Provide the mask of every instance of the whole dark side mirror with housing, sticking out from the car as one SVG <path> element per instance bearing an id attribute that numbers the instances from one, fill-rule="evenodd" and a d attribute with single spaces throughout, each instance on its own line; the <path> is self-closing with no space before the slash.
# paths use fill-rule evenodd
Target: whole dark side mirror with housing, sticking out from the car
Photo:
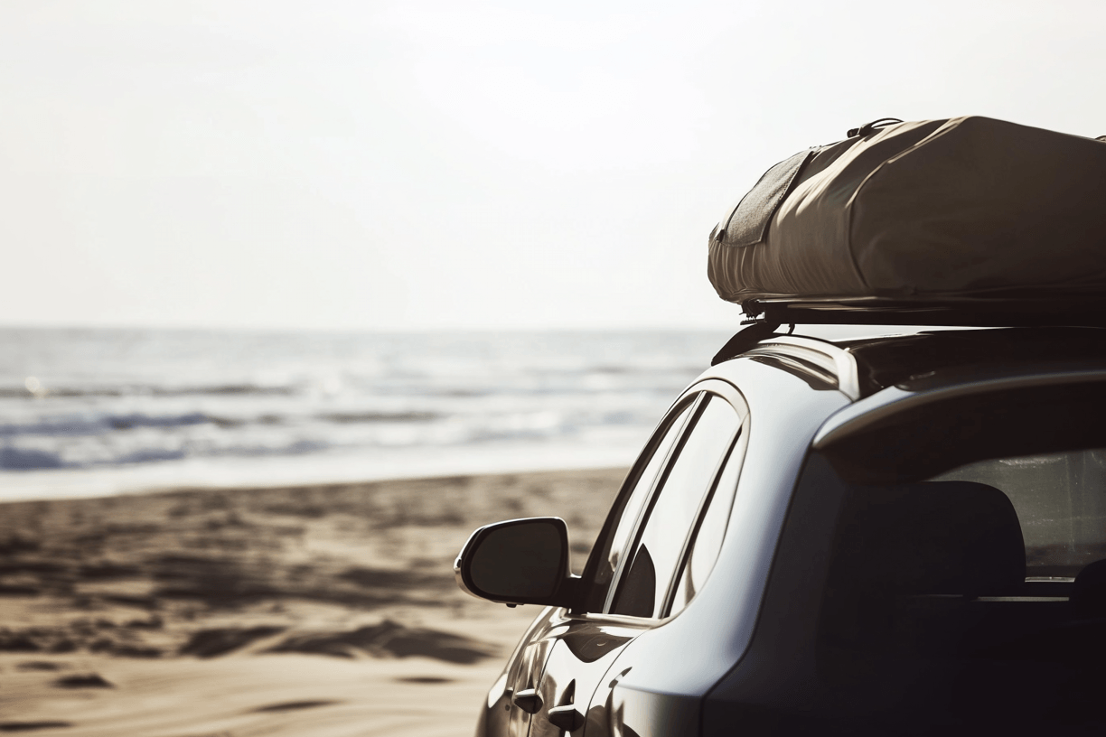
<path id="1" fill-rule="evenodd" d="M 571 607 L 568 528 L 560 517 L 509 519 L 472 533 L 453 564 L 462 591 L 509 607 Z"/>

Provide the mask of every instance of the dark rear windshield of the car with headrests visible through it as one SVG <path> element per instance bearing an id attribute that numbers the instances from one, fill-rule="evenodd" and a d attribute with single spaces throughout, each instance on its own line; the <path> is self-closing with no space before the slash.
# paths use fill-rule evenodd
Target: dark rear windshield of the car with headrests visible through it
<path id="1" fill-rule="evenodd" d="M 839 708 L 1106 734 L 1106 450 L 837 488 L 817 661 Z"/>

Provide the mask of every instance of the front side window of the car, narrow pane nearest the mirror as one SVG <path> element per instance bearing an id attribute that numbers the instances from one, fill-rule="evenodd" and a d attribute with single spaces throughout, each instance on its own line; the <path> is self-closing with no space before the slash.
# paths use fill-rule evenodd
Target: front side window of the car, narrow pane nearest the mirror
<path id="1" fill-rule="evenodd" d="M 612 510 L 612 520 L 605 527 L 605 537 L 601 537 L 596 543 L 595 552 L 592 554 L 593 560 L 588 568 L 594 572 L 591 575 L 592 581 L 585 599 L 587 611 L 599 611 L 606 603 L 607 591 L 614 572 L 618 569 L 619 557 L 628 547 L 629 536 L 637 525 L 641 507 L 649 498 L 649 492 L 653 491 L 676 439 L 679 438 L 688 415 L 691 414 L 697 397 L 698 394 L 689 398 L 682 409 L 670 415 L 667 422 L 661 423 L 654 436 L 656 442 L 646 445 L 643 457 L 635 464 L 641 472 L 629 491 L 622 495 L 620 505 L 616 505 Z"/>

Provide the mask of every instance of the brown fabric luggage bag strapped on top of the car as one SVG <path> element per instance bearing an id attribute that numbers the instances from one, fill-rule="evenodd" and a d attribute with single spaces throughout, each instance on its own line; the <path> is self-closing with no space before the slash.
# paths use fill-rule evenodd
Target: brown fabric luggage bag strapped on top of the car
<path id="1" fill-rule="evenodd" d="M 1057 299 L 1106 315 L 1106 144 L 984 117 L 849 134 L 774 166 L 716 227 L 719 296 L 838 313 L 818 322 Z"/>

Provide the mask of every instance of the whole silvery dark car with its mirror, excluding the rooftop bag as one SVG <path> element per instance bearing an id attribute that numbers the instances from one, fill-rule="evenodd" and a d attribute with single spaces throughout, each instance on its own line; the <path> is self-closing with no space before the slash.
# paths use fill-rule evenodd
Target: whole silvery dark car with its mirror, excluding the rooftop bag
<path id="1" fill-rule="evenodd" d="M 479 736 L 1106 734 L 1106 330 L 806 333 L 680 394 L 580 578 L 470 539 L 547 604 Z"/>

